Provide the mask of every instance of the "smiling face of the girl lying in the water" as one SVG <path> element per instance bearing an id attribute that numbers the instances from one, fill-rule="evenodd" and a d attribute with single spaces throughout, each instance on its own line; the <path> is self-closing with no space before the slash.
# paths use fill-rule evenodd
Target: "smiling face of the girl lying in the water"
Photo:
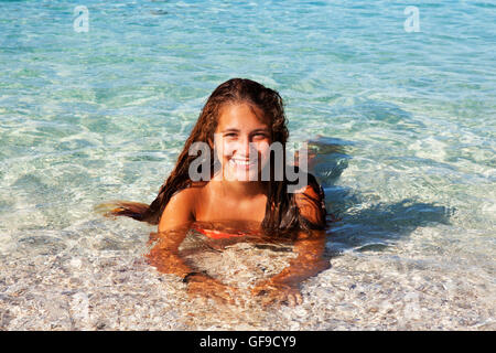
<path id="1" fill-rule="evenodd" d="M 248 104 L 222 107 L 214 135 L 223 178 L 229 181 L 259 181 L 269 160 L 270 127 L 263 111 Z"/>

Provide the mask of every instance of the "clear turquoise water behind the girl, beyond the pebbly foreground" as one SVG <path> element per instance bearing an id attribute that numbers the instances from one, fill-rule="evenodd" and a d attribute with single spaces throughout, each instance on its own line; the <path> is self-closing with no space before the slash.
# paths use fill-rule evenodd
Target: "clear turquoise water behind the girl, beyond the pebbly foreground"
<path id="1" fill-rule="evenodd" d="M 151 202 L 212 90 L 247 77 L 285 99 L 293 141 L 344 148 L 320 165 L 347 162 L 324 180 L 331 252 L 470 268 L 494 299 L 496 3 L 414 1 L 417 33 L 410 4 L 0 1 L 0 252 L 142 246 L 152 227 L 94 205 Z"/>

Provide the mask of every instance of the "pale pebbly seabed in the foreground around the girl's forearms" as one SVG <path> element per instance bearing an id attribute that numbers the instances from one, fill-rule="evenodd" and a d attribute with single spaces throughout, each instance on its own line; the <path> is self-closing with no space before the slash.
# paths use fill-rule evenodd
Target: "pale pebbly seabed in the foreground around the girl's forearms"
<path id="1" fill-rule="evenodd" d="M 398 256 L 409 253 L 409 258 Z M 302 285 L 304 302 L 263 308 L 188 298 L 173 275 L 136 249 L 54 250 L 26 245 L 0 259 L 1 330 L 495 330 L 495 285 L 487 271 L 442 265 L 398 246 L 345 252 Z M 247 244 L 196 256 L 196 266 L 241 292 L 287 266 L 288 252 Z"/>

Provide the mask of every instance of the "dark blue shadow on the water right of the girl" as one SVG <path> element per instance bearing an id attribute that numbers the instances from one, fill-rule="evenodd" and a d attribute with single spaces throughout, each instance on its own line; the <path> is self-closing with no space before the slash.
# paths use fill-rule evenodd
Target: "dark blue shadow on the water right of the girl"
<path id="1" fill-rule="evenodd" d="M 335 185 L 348 167 L 355 143 L 319 136 L 309 141 L 310 172 L 325 191 L 330 215 L 327 253 L 338 255 L 348 249 L 380 252 L 417 227 L 450 224 L 453 208 L 405 199 L 384 203 L 365 199 L 351 188 Z M 333 221 L 337 218 L 337 221 Z"/>

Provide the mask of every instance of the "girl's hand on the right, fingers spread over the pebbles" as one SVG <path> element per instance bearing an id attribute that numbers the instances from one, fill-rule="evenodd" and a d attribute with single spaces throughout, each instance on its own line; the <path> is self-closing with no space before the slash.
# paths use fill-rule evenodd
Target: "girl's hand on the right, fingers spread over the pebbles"
<path id="1" fill-rule="evenodd" d="M 268 279 L 257 285 L 251 290 L 251 293 L 257 297 L 262 297 L 261 301 L 265 306 L 287 303 L 290 307 L 294 307 L 303 302 L 303 297 L 296 287 L 281 284 L 273 279 Z"/>

